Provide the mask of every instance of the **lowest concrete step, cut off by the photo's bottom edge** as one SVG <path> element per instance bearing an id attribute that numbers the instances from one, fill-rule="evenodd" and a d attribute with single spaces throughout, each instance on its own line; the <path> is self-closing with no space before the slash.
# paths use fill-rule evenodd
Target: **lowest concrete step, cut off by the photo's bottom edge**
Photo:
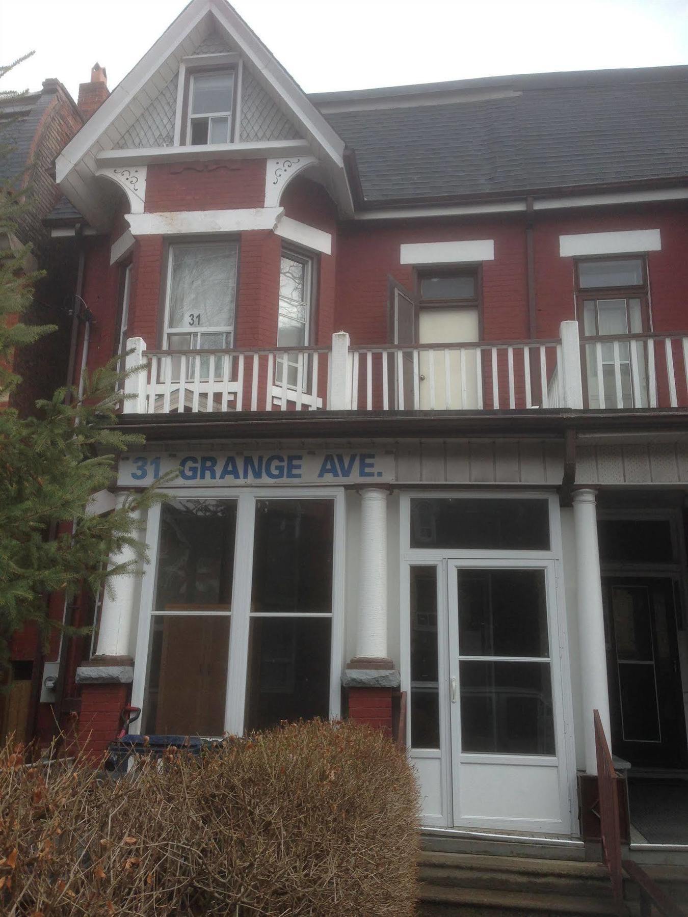
<path id="1" fill-rule="evenodd" d="M 461 909 L 462 917 L 470 913 L 464 909 L 476 909 L 474 913 L 487 915 L 505 913 L 510 917 L 520 915 L 548 914 L 549 917 L 563 917 L 564 914 L 592 914 L 595 917 L 604 917 L 614 914 L 614 901 L 611 898 L 594 895 L 571 897 L 566 894 L 538 894 L 531 891 L 503 891 L 502 889 L 473 889 L 473 888 L 447 888 L 443 885 L 431 885 L 427 882 L 420 883 L 420 905 L 418 913 L 429 915 L 438 906 L 449 909 Z M 426 909 L 426 910 L 424 910 Z"/>

